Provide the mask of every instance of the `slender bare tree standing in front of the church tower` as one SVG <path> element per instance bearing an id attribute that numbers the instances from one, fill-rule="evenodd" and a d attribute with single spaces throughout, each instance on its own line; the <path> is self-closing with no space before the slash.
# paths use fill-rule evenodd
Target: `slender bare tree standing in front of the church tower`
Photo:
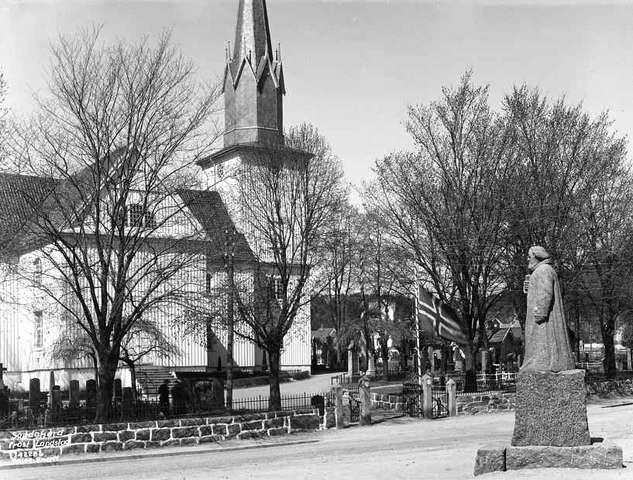
<path id="1" fill-rule="evenodd" d="M 233 285 L 247 327 L 236 334 L 267 354 L 271 409 L 281 407 L 284 338 L 309 301 L 310 269 L 321 260 L 317 247 L 344 197 L 339 162 L 315 127 L 291 128 L 286 144 L 295 150 L 261 153 L 242 169 L 237 187 L 245 235 L 258 248 L 254 274 L 236 275 Z"/>

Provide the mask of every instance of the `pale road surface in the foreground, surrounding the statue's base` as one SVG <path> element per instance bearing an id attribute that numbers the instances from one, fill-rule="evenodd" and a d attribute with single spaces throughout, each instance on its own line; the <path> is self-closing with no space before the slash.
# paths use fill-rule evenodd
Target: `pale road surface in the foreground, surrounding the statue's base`
<path id="1" fill-rule="evenodd" d="M 371 427 L 313 434 L 311 438 L 318 439 L 317 443 L 4 470 L 0 471 L 0 479 L 454 480 L 472 478 L 477 447 L 490 442 L 508 442 L 513 422 L 512 413 L 435 421 L 400 418 Z M 624 448 L 625 465 L 629 468 L 618 471 L 524 470 L 479 478 L 633 479 L 633 405 L 613 408 L 592 405 L 589 423 L 593 436 L 609 437 Z"/>

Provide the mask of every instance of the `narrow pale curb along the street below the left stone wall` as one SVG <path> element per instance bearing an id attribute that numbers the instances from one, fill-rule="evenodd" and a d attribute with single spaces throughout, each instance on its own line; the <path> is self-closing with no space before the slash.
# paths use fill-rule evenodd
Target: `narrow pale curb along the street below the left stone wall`
<path id="1" fill-rule="evenodd" d="M 55 460 L 51 462 L 32 462 L 32 463 L 11 463 L 7 465 L 0 465 L 0 471 L 2 470 L 13 470 L 17 468 L 37 468 L 37 467 L 47 467 L 51 465 L 73 465 L 78 463 L 102 463 L 102 462 L 115 462 L 121 460 L 138 460 L 142 458 L 151 458 L 151 457 L 173 457 L 176 455 L 202 455 L 205 453 L 216 453 L 216 452 L 235 452 L 239 450 L 254 450 L 257 448 L 272 448 L 272 447 L 287 447 L 292 445 L 303 445 L 307 443 L 318 443 L 317 439 L 307 439 L 307 440 L 295 440 L 290 442 L 273 442 L 273 443 L 259 443 L 255 445 L 236 445 L 230 447 L 222 447 L 221 443 L 217 443 L 216 445 L 220 445 L 217 448 L 191 448 L 188 450 L 183 450 L 182 447 L 175 447 L 170 451 L 161 451 L 160 449 L 152 450 L 147 453 L 135 453 L 132 455 L 108 455 L 108 456 L 95 456 L 95 457 L 82 457 L 82 458 L 70 458 L 68 460 Z"/>

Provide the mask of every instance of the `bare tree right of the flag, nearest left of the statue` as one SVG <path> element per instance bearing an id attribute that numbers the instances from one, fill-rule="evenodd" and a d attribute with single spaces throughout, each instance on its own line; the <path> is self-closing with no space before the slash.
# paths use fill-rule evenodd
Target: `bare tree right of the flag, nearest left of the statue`
<path id="1" fill-rule="evenodd" d="M 456 307 L 473 389 L 486 313 L 503 290 L 498 265 L 512 142 L 490 111 L 488 88 L 473 85 L 470 74 L 442 93 L 438 102 L 409 108 L 407 129 L 418 150 L 376 163 L 370 201 L 425 285 Z"/>

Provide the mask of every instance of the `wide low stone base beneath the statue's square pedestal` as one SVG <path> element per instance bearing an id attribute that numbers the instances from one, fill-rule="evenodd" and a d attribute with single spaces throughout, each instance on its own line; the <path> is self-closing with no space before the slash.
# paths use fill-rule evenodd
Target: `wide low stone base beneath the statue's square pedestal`
<path id="1" fill-rule="evenodd" d="M 592 439 L 591 445 L 485 446 L 477 450 L 475 476 L 524 468 L 622 468 L 622 448 L 610 440 Z"/>

